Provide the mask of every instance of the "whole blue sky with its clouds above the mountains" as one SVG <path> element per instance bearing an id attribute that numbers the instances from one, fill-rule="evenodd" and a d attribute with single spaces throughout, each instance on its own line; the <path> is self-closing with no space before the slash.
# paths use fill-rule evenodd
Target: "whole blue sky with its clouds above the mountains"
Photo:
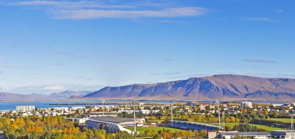
<path id="1" fill-rule="evenodd" d="M 295 78 L 294 0 L 0 0 L 0 92 Z"/>

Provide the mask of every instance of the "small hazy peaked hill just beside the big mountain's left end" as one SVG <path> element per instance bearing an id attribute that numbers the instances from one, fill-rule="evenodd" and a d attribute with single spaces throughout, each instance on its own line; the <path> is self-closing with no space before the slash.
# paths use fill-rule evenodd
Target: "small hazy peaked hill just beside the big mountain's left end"
<path id="1" fill-rule="evenodd" d="M 51 97 L 55 99 L 67 99 L 71 96 L 85 96 L 87 94 L 91 93 L 91 91 L 85 91 L 85 90 L 79 90 L 79 91 L 72 91 L 72 90 L 66 90 L 59 93 L 52 93 L 50 94 Z"/>

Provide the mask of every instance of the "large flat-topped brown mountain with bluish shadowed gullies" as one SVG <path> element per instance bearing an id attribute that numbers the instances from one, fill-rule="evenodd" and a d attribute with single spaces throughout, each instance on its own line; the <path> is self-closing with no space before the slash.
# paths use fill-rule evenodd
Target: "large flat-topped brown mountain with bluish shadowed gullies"
<path id="1" fill-rule="evenodd" d="M 166 83 L 105 87 L 83 98 L 295 100 L 295 79 L 214 75 Z"/>

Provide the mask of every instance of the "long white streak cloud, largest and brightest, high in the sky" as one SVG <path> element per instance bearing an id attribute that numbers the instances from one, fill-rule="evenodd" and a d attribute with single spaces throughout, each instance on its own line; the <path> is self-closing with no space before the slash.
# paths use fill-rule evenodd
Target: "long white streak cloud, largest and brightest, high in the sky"
<path id="1" fill-rule="evenodd" d="M 207 14 L 209 10 L 203 7 L 179 7 L 161 10 L 59 10 L 54 11 L 54 18 L 57 19 L 98 19 L 98 18 L 173 18 L 192 17 Z"/>

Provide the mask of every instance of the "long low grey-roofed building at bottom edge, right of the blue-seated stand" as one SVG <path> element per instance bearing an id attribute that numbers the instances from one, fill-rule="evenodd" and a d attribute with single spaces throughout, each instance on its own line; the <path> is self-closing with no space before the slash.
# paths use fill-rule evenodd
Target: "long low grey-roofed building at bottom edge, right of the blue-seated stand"
<path id="1" fill-rule="evenodd" d="M 268 132 L 237 132 L 230 131 L 224 132 L 219 131 L 218 138 L 222 139 L 235 139 L 236 136 L 243 136 L 244 138 L 251 137 L 251 139 L 268 139 L 271 137 L 271 134 Z"/>

